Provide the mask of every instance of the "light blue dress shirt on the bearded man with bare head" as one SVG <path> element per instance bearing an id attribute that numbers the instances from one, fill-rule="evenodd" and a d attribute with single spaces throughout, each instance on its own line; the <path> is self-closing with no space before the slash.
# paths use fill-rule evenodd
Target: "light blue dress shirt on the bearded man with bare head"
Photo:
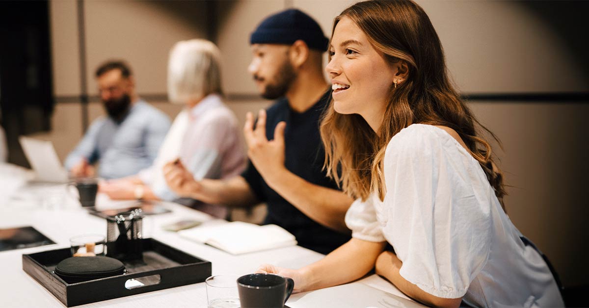
<path id="1" fill-rule="evenodd" d="M 167 115 L 140 100 L 135 102 L 123 122 L 101 117 L 90 128 L 65 160 L 70 170 L 82 158 L 100 161 L 98 176 L 121 178 L 149 167 L 170 128 Z"/>

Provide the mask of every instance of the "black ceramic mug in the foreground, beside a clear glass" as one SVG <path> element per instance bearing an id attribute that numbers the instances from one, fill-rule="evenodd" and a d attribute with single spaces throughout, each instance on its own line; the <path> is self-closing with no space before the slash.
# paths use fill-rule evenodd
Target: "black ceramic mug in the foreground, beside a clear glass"
<path id="1" fill-rule="evenodd" d="M 241 308 L 284 307 L 294 281 L 275 274 L 248 274 L 237 279 Z"/>

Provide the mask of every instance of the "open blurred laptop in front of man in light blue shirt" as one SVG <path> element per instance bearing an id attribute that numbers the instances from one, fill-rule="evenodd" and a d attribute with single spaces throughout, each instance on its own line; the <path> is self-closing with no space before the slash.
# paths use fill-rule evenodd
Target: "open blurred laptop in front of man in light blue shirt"
<path id="1" fill-rule="evenodd" d="M 21 136 L 18 138 L 29 164 L 37 174 L 35 181 L 67 183 L 68 173 L 61 165 L 51 141 Z"/>

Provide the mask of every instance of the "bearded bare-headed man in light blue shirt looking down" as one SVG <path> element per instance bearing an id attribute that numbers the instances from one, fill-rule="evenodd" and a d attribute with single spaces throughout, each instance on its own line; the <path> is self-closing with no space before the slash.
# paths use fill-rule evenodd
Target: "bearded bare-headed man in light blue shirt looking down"
<path id="1" fill-rule="evenodd" d="M 73 177 L 121 178 L 149 167 L 166 137 L 170 120 L 135 92 L 131 69 L 108 61 L 96 70 L 100 99 L 107 116 L 90 125 L 65 160 Z M 94 164 L 100 163 L 98 174 Z"/>

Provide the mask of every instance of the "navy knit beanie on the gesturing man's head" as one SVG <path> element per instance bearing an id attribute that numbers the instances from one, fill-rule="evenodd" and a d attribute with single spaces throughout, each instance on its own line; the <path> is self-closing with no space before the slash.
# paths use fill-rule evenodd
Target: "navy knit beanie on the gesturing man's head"
<path id="1" fill-rule="evenodd" d="M 319 51 L 326 51 L 329 42 L 315 19 L 298 9 L 287 9 L 264 19 L 252 33 L 250 44 L 290 45 L 298 39 Z"/>

